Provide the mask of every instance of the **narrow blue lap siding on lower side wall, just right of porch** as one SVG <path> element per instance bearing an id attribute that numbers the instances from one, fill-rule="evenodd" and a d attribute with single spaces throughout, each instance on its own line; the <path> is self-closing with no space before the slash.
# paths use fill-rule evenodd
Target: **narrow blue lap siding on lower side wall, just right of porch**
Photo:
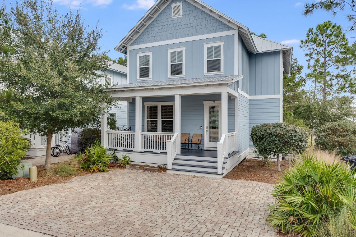
<path id="1" fill-rule="evenodd" d="M 250 140 L 250 105 L 249 99 L 239 93 L 238 97 L 239 107 L 239 137 L 238 137 L 238 150 L 239 155 L 244 153 L 249 148 Z"/>

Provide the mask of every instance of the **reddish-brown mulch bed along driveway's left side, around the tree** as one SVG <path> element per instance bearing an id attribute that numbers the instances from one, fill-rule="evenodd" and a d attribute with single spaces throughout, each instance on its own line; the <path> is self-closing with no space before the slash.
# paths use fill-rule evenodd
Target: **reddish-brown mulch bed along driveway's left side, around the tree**
<path id="1" fill-rule="evenodd" d="M 27 158 L 27 159 L 31 159 L 31 158 Z M 139 166 L 140 170 L 143 170 L 144 167 L 157 168 L 157 167 L 150 166 L 150 165 L 138 165 L 138 164 L 132 164 L 132 165 Z M 110 169 L 124 169 L 121 167 L 120 164 L 117 164 L 117 163 L 110 163 L 109 168 Z M 166 172 L 166 169 L 160 170 L 159 172 Z M 51 177 L 51 176 L 45 175 L 45 166 L 41 165 L 41 166 L 37 166 L 37 181 L 36 182 L 31 182 L 29 178 L 23 178 L 23 177 L 17 178 L 17 179 L 0 180 L 0 195 L 15 193 L 15 192 L 21 191 L 21 190 L 38 188 L 38 187 L 45 186 L 45 185 L 63 183 L 66 180 L 72 179 L 74 177 L 82 176 L 82 175 L 87 175 L 87 174 L 91 174 L 91 173 L 88 171 L 78 170 L 77 175 L 69 175 L 67 177 L 59 177 L 59 176 Z"/>

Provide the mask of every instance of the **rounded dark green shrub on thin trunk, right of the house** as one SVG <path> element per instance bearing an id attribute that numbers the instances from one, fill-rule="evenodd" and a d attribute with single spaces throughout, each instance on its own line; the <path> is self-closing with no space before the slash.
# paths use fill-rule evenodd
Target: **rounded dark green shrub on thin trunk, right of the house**
<path id="1" fill-rule="evenodd" d="M 279 155 L 305 151 L 308 131 L 286 122 L 263 123 L 252 127 L 251 141 L 259 156 L 276 156 L 281 171 Z"/>

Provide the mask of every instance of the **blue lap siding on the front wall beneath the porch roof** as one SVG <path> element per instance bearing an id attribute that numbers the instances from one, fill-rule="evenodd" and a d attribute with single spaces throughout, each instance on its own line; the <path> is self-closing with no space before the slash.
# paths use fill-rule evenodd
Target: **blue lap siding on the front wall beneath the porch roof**
<path id="1" fill-rule="evenodd" d="M 189 133 L 201 133 L 201 143 L 204 149 L 204 101 L 221 100 L 221 94 L 214 95 L 186 95 L 181 96 L 180 107 L 180 131 Z M 142 131 L 145 131 L 145 102 L 174 101 L 173 96 L 142 98 Z M 129 126 L 135 131 L 135 98 L 129 103 Z M 228 97 L 228 132 L 235 131 L 235 99 Z M 184 145 L 183 145 L 184 147 Z"/>

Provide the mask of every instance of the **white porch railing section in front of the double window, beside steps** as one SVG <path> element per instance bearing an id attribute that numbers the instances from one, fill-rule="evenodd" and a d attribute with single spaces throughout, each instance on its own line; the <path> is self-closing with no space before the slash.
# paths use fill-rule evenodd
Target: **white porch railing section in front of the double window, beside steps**
<path id="1" fill-rule="evenodd" d="M 153 152 L 167 152 L 167 141 L 171 140 L 174 133 L 141 132 L 141 150 Z"/>

